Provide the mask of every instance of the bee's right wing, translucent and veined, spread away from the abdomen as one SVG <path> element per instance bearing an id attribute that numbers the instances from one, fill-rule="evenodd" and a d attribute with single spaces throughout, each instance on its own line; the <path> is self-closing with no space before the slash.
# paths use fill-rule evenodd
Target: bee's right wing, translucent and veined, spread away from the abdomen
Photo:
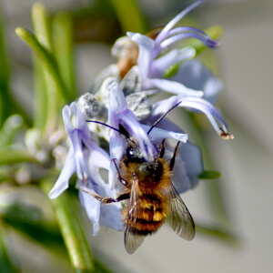
<path id="1" fill-rule="evenodd" d="M 170 196 L 170 225 L 180 237 L 190 241 L 195 237 L 195 223 L 172 183 Z"/>

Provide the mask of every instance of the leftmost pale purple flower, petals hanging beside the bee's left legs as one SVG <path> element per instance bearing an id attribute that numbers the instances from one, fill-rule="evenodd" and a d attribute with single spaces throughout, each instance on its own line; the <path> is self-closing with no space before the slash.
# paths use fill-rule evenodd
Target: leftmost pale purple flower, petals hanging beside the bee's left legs
<path id="1" fill-rule="evenodd" d="M 101 206 L 101 202 L 91 195 L 96 193 L 106 197 L 116 197 L 116 190 L 110 189 L 98 172 L 98 168 L 109 170 L 110 157 L 91 139 L 86 120 L 76 103 L 64 107 L 63 119 L 71 146 L 65 165 L 49 197 L 56 198 L 62 194 L 68 187 L 69 178 L 76 172 L 80 201 L 93 223 L 93 235 L 98 232 L 99 225 L 122 230 L 120 204 L 111 207 Z"/>

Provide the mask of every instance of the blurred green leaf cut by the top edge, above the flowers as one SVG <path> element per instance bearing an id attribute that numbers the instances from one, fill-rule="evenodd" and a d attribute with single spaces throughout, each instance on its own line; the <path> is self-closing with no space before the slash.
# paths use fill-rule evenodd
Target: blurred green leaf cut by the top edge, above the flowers
<path id="1" fill-rule="evenodd" d="M 127 31 L 146 33 L 147 22 L 139 11 L 136 0 L 112 0 L 124 33 Z"/>

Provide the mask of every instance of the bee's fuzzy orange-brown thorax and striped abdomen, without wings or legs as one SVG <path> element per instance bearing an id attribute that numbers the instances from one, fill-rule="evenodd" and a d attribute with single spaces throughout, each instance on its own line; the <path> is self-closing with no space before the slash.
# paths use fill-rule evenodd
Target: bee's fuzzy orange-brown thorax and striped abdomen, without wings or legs
<path id="1" fill-rule="evenodd" d="M 136 194 L 135 206 L 124 209 L 125 225 L 130 233 L 151 235 L 162 226 L 169 212 L 169 164 L 163 158 L 142 163 L 131 163 L 125 158 L 121 162 L 121 176 L 128 181 L 126 191 Z M 136 192 L 132 187 L 136 187 Z"/>

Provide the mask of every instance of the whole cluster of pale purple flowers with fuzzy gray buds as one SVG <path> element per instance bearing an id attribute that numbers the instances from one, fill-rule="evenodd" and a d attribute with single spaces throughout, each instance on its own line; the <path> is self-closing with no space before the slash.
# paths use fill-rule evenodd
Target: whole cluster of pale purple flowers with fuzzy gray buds
<path id="1" fill-rule="evenodd" d="M 199 61 L 191 59 L 196 55 L 194 48 L 187 46 L 169 50 L 170 45 L 184 38 L 197 38 L 209 47 L 218 45 L 197 28 L 174 28 L 184 15 L 202 2 L 197 1 L 173 18 L 155 40 L 146 35 L 128 33 L 128 37 L 116 43 L 113 52 L 122 54 L 123 46 L 126 47 L 126 41 L 130 39 L 131 44 L 138 45 L 137 66 L 131 67 L 121 82 L 118 67 L 109 66 L 95 80 L 93 94 L 81 96 L 77 104 L 72 103 L 63 109 L 66 133 L 71 143 L 65 165 L 49 197 L 56 198 L 66 190 L 69 178 L 76 173 L 80 201 L 93 223 L 93 235 L 100 226 L 123 229 L 121 205 L 101 205 L 92 194 L 116 198 L 116 183 L 119 183 L 116 167 L 124 156 L 127 137 L 134 137 L 141 157 L 147 161 L 158 157 L 164 139 L 167 139 L 164 155 L 167 160 L 174 153 L 169 139 L 181 142 L 172 170 L 172 181 L 178 193 L 197 186 L 198 177 L 204 171 L 202 154 L 199 147 L 187 140 L 187 134 L 165 115 L 177 106 L 186 107 L 205 114 L 219 136 L 233 137 L 223 116 L 213 106 L 222 89 L 221 81 Z M 167 77 L 167 69 L 171 66 L 179 66 L 177 74 Z M 147 96 L 158 90 L 175 96 L 153 104 Z M 155 125 L 159 117 L 162 119 Z M 86 119 L 92 119 L 89 121 L 93 123 L 87 125 Z M 121 127 L 125 128 L 128 136 Z M 101 138 L 109 144 L 109 155 L 99 147 Z M 100 168 L 108 172 L 107 183 L 100 175 Z"/>

